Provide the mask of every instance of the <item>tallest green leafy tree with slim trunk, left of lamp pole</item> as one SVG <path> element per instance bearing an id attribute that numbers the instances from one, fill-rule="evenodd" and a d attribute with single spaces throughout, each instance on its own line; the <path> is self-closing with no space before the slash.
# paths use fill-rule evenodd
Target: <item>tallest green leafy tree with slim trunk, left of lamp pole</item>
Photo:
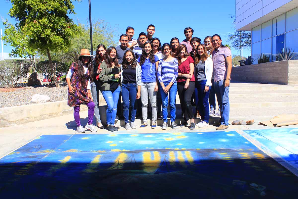
<path id="1" fill-rule="evenodd" d="M 77 0 L 80 1 L 80 0 Z M 37 49 L 49 59 L 56 87 L 59 86 L 50 51 L 65 50 L 70 38 L 80 31 L 67 14 L 75 14 L 71 0 L 11 0 L 9 14 L 16 28 L 29 38 L 30 49 Z"/>

